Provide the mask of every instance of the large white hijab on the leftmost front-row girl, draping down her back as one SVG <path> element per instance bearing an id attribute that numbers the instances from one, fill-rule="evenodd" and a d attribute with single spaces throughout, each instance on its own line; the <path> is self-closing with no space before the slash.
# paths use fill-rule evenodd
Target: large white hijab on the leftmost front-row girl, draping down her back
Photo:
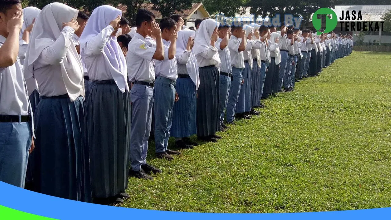
<path id="1" fill-rule="evenodd" d="M 63 23 L 77 18 L 79 10 L 68 5 L 54 2 L 46 5 L 36 18 L 34 31 L 30 36 L 24 62 L 25 78 L 33 77 L 34 63 L 46 47 L 50 47 L 60 36 Z M 71 41 L 68 52 L 61 63 L 61 75 L 71 101 L 79 95 L 84 96 L 83 67 L 76 47 Z"/>

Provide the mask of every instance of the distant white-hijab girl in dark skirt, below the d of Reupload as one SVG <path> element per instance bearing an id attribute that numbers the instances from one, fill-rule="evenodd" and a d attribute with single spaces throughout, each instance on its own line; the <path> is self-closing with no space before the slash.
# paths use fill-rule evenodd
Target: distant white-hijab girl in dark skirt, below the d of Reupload
<path id="1" fill-rule="evenodd" d="M 278 37 L 281 36 L 281 34 L 278 34 L 277 32 L 273 32 L 270 34 L 270 56 L 271 61 L 269 65 L 268 72 L 270 71 L 273 76 L 272 82 L 271 82 L 271 95 L 275 95 L 279 88 L 278 88 L 278 77 L 280 73 L 280 63 L 281 63 L 281 54 L 280 54 L 280 48 L 278 47 Z M 277 45 L 276 45 L 277 44 Z"/>

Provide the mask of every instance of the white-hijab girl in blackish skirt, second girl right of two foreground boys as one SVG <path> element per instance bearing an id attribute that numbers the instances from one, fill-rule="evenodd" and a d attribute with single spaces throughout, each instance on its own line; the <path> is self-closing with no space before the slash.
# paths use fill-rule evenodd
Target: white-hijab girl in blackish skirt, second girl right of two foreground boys
<path id="1" fill-rule="evenodd" d="M 203 141 L 221 139 L 219 115 L 219 64 L 220 57 L 215 42 L 219 37 L 220 23 L 213 19 L 201 22 L 194 39 L 194 54 L 199 67 L 197 98 L 197 136 Z"/>

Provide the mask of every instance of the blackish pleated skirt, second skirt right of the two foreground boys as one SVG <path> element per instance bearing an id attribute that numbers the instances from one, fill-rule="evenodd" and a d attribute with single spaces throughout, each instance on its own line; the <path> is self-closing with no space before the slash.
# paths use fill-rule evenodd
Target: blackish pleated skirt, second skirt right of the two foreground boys
<path id="1" fill-rule="evenodd" d="M 220 128 L 219 70 L 214 65 L 200 67 L 197 93 L 197 136 L 215 135 Z"/>

